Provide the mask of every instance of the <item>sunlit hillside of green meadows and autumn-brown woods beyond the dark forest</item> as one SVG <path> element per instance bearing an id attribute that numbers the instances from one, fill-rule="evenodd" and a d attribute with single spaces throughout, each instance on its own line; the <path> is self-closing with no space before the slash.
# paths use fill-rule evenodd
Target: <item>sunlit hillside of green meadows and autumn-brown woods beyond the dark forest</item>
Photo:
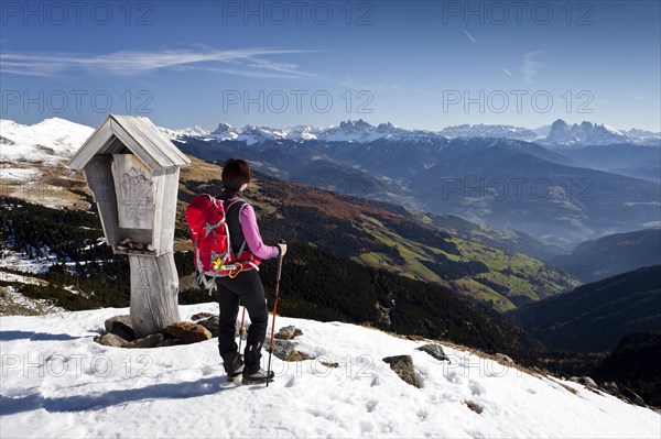
<path id="1" fill-rule="evenodd" d="M 186 204 L 196 194 L 221 190 L 220 167 L 194 163 L 182 169 L 177 222 L 182 249 L 187 249 Z M 256 206 L 267 241 L 312 243 L 368 266 L 444 285 L 499 311 L 577 285 L 572 276 L 507 246 L 503 241 L 512 237 L 502 231 L 489 237 L 487 230 L 455 217 L 411 213 L 397 205 L 263 174 L 245 196 Z"/>

